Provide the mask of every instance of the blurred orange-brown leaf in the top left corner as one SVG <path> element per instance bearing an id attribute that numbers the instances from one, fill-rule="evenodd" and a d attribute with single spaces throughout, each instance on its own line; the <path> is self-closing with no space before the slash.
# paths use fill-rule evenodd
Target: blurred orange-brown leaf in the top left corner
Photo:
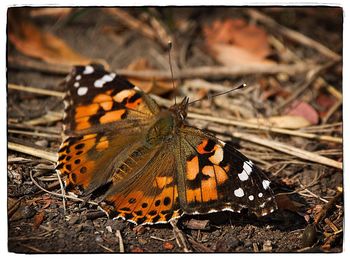
<path id="1" fill-rule="evenodd" d="M 20 13 L 20 14 L 23 14 Z M 9 40 L 21 53 L 48 63 L 89 64 L 91 59 L 76 53 L 62 39 L 41 31 L 24 15 L 9 13 Z M 103 61 L 101 61 L 103 63 Z"/>

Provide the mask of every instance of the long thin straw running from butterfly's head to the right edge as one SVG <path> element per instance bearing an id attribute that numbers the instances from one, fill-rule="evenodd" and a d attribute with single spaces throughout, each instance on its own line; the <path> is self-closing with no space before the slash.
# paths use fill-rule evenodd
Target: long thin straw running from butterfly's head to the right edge
<path id="1" fill-rule="evenodd" d="M 222 124 L 227 124 L 227 125 L 240 126 L 240 127 L 259 129 L 259 130 L 266 130 L 266 131 L 271 131 L 271 132 L 275 132 L 275 133 L 293 135 L 293 136 L 298 136 L 298 137 L 303 137 L 303 138 L 308 138 L 308 139 L 316 139 L 316 140 L 330 141 L 330 142 L 336 142 L 336 143 L 343 142 L 343 139 L 338 138 L 338 137 L 332 137 L 332 136 L 326 136 L 326 135 L 316 135 L 316 134 L 312 134 L 312 133 L 304 133 L 304 132 L 300 132 L 300 131 L 287 130 L 287 129 L 281 129 L 281 128 L 275 128 L 275 127 L 270 128 L 267 126 L 262 126 L 260 124 L 254 124 L 254 123 L 244 122 L 244 121 L 237 121 L 237 120 L 233 120 L 233 119 L 223 119 L 223 118 L 218 118 L 218 117 L 213 117 L 213 116 L 201 115 L 201 114 L 197 114 L 197 113 L 188 113 L 188 117 L 192 118 L 192 119 L 206 120 L 206 121 L 222 123 Z"/>

